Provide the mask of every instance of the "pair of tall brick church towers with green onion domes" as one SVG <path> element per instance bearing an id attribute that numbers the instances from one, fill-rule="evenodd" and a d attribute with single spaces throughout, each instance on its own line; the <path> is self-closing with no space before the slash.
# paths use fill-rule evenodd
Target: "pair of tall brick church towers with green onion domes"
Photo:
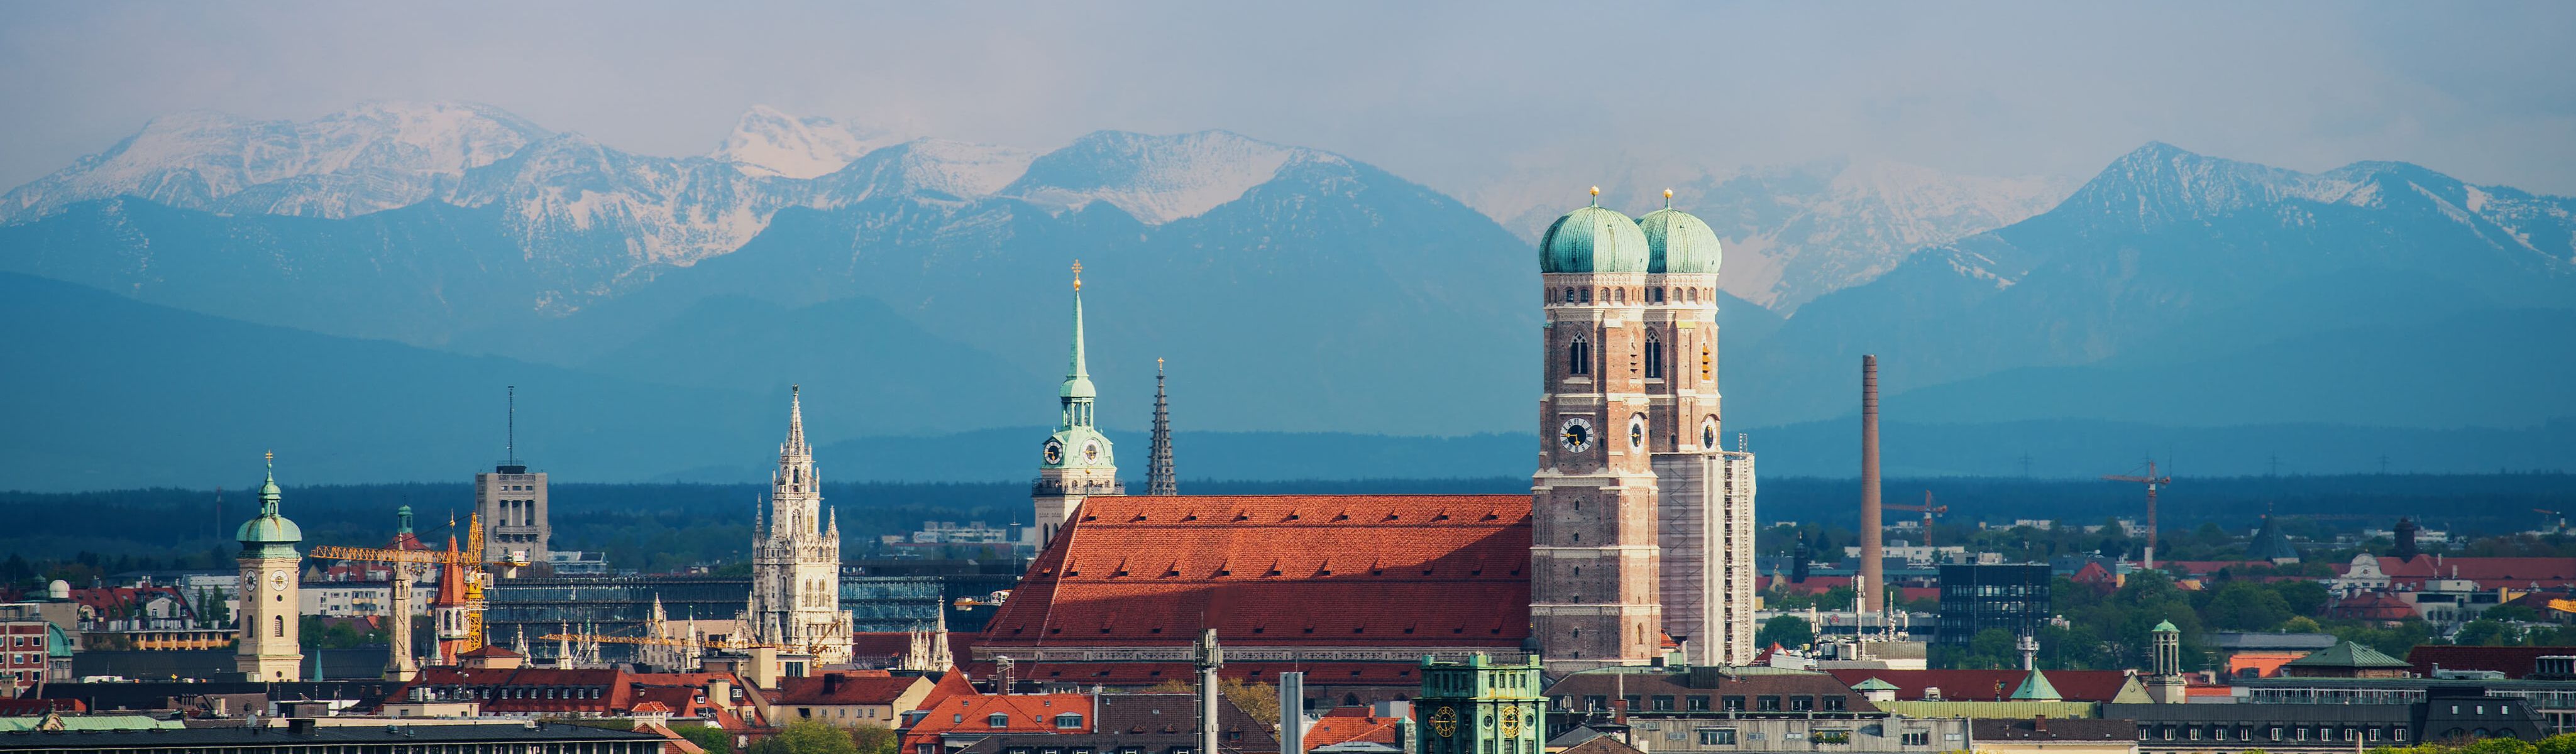
<path id="1" fill-rule="evenodd" d="M 1551 672 L 1749 661 L 1752 453 L 1718 425 L 1718 237 L 1597 201 L 1540 239 L 1530 630 Z"/>

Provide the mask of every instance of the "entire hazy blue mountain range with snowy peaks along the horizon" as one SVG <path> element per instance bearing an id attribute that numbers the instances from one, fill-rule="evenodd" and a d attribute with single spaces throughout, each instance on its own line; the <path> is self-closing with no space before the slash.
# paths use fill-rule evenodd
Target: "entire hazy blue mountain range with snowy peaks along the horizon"
<path id="1" fill-rule="evenodd" d="M 2576 417 L 2568 198 L 2169 144 L 2081 185 L 1850 162 L 1677 175 L 1677 206 L 1728 244 L 1726 419 L 1757 450 L 1762 427 L 1826 445 L 1806 437 L 1839 432 L 1860 353 L 1886 363 L 1891 417 L 1994 445 L 1922 474 L 2004 471 L 2032 450 L 2012 437 L 2244 425 L 2311 427 L 2287 445 L 2380 427 L 2362 435 L 2450 443 L 2432 455 L 2483 471 L 2478 443 Z M 1646 211 L 1659 188 L 1605 185 L 1605 203 Z M 497 453 L 502 383 L 523 386 L 520 448 L 567 476 L 757 474 L 804 383 L 819 435 L 881 448 L 845 468 L 984 479 L 881 461 L 1010 453 L 994 427 L 1054 414 L 1077 257 L 1105 425 L 1144 425 L 1170 358 L 1182 430 L 1247 432 L 1208 471 L 1182 448 L 1185 476 L 1262 476 L 1265 453 L 1303 476 L 1334 468 L 1329 448 L 1373 448 L 1373 474 L 1404 453 L 1347 435 L 1533 422 L 1525 237 L 1582 193 L 1507 193 L 1468 206 L 1229 131 L 1036 152 L 755 108 L 708 157 L 652 157 L 459 103 L 167 116 L 0 196 L 0 273 L 18 273 L 0 345 L 46 355 L 0 389 L 62 396 L 0 407 L 59 427 L 10 437 L 0 486 L 214 484 L 240 466 L 224 448 L 268 445 L 312 458 L 307 481 L 456 476 Z M 2002 430 L 2027 422 L 2050 425 Z M 1399 476 L 1522 461 L 1417 445 L 1448 450 Z M 2143 450 L 2164 453 L 2117 458 Z M 1765 466 L 1842 463 L 1806 455 Z"/>

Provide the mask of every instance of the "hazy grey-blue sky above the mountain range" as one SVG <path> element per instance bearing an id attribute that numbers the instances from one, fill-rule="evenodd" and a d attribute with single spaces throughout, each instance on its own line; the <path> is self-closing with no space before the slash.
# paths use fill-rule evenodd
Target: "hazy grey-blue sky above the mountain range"
<path id="1" fill-rule="evenodd" d="M 420 98 L 649 154 L 755 103 L 1020 147 L 1231 129 L 1450 193 L 1674 157 L 2089 175 L 2148 139 L 2576 193 L 2568 49 L 2576 3 L 5 3 L 0 185 L 157 113 Z"/>

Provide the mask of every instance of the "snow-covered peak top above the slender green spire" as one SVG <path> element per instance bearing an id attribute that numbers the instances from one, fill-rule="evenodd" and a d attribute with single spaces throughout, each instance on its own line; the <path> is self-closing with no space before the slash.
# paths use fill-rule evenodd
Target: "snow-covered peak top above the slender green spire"
<path id="1" fill-rule="evenodd" d="M 1340 160 L 1229 131 L 1175 136 L 1095 131 L 1038 157 L 1028 165 L 1028 175 L 1002 193 L 1051 208 L 1105 201 L 1144 224 L 1167 224 L 1236 201 L 1301 157 Z"/>

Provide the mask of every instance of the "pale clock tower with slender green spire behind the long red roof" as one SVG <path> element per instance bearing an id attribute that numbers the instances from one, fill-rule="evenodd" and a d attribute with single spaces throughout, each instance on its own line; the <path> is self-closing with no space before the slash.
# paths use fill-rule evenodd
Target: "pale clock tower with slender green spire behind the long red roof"
<path id="1" fill-rule="evenodd" d="M 1056 432 L 1038 445 L 1038 481 L 1030 486 L 1041 551 L 1074 517 L 1084 497 L 1126 494 L 1126 486 L 1118 484 L 1110 437 L 1092 425 L 1092 399 L 1097 396 L 1092 371 L 1082 358 L 1082 262 L 1074 262 L 1074 347 L 1064 386 L 1056 389 Z"/>

